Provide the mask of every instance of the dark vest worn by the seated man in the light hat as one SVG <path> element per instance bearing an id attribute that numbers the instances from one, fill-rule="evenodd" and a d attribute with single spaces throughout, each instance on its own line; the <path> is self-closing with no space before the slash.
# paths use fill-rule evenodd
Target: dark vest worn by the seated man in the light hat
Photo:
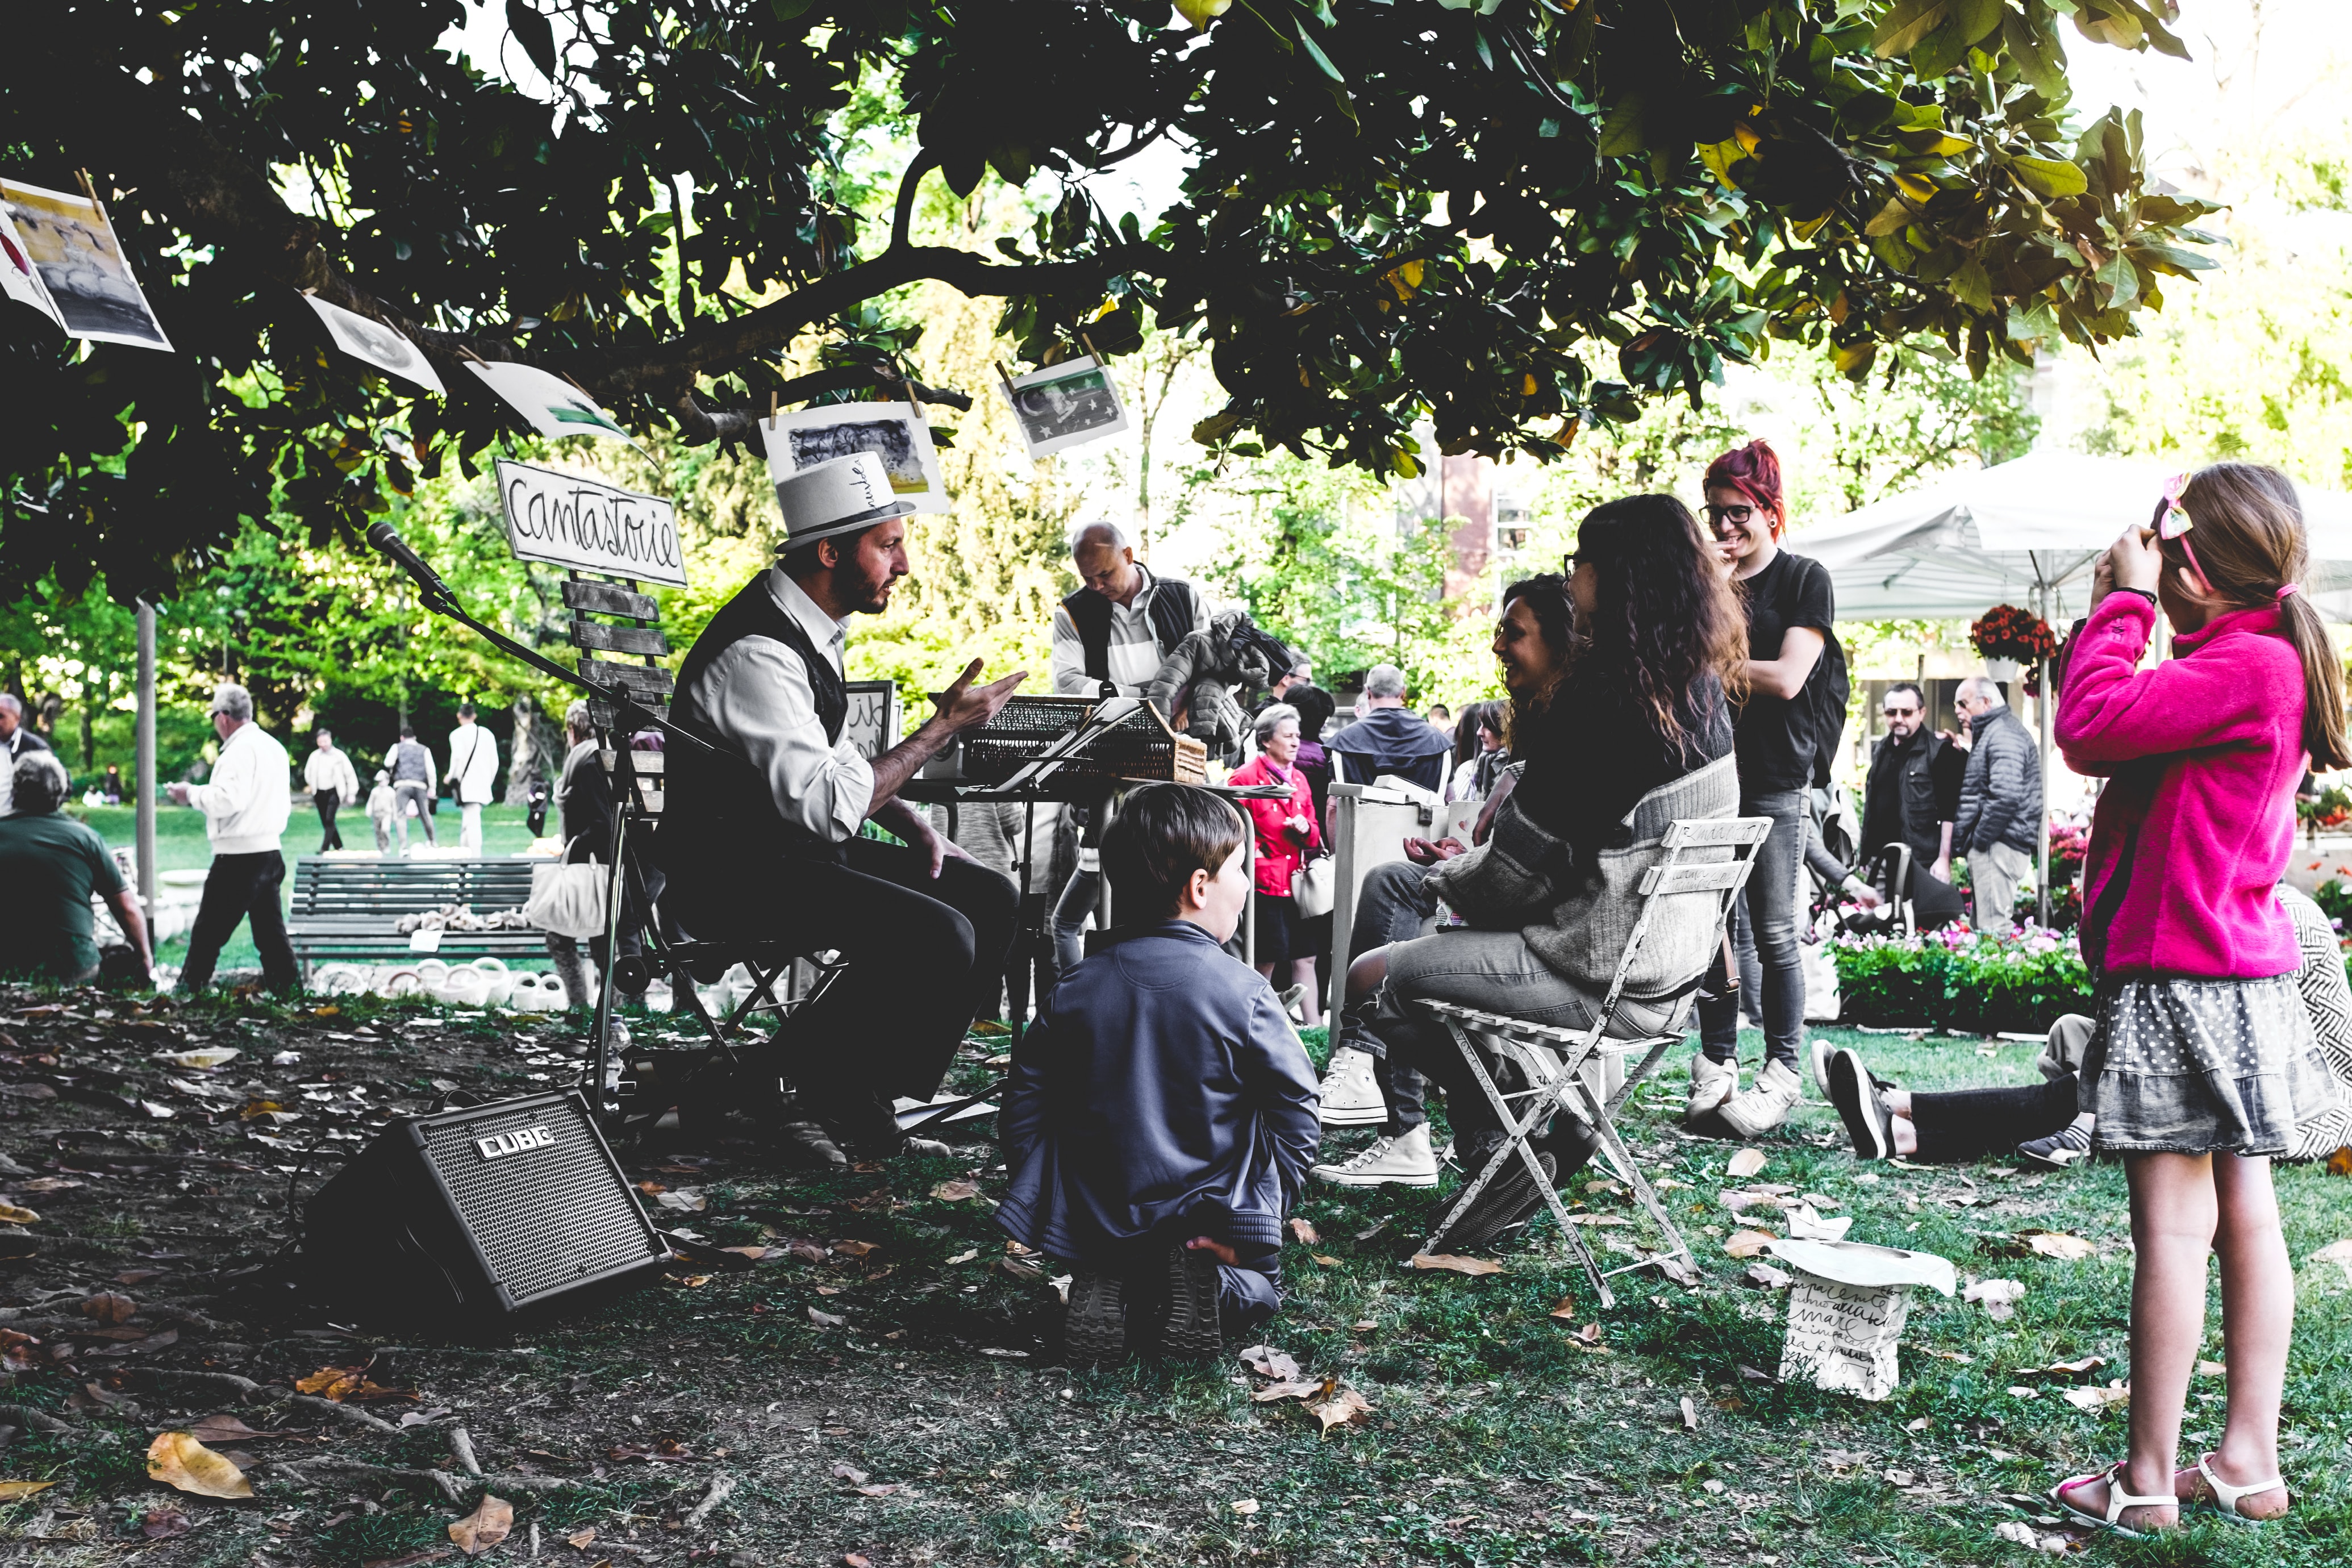
<path id="1" fill-rule="evenodd" d="M 826 743 L 840 745 L 842 724 L 849 719 L 849 689 L 835 675 L 833 661 L 809 642 L 800 621 L 776 604 L 767 590 L 764 571 L 727 599 L 727 607 L 710 616 L 710 625 L 694 639 L 677 670 L 677 703 L 670 708 L 670 719 L 696 736 L 717 741 L 717 731 L 694 691 L 713 661 L 746 637 L 769 637 L 800 654 L 800 665 L 809 672 L 809 691 L 816 696 L 816 719 L 826 726 Z M 687 858 L 706 856 L 727 856 L 729 863 L 741 863 L 743 856 L 842 858 L 840 844 L 816 844 L 804 832 L 786 827 L 767 778 L 736 755 L 706 759 L 687 748 L 670 752 L 661 818 L 661 860 L 673 875 L 687 865 Z M 710 870 L 710 865 L 696 870 Z"/>

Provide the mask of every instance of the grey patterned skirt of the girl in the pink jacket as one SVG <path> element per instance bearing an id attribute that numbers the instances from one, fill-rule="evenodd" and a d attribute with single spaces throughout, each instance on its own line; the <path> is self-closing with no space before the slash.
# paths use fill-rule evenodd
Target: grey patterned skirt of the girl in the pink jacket
<path id="1" fill-rule="evenodd" d="M 2082 1110 L 2103 1150 L 2286 1154 L 2340 1093 L 2291 973 L 2100 987 Z"/>

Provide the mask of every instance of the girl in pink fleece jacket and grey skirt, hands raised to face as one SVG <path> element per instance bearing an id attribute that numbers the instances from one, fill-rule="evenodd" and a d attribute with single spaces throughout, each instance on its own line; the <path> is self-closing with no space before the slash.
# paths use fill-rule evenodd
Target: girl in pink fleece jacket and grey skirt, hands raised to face
<path id="1" fill-rule="evenodd" d="M 2178 1502 L 2274 1519 L 2279 1396 L 2296 1276 L 2270 1159 L 2338 1095 L 2296 992 L 2296 931 L 2272 889 L 2305 766 L 2340 769 L 2343 672 L 2300 595 L 2303 508 L 2274 468 L 2173 480 L 2154 529 L 2105 555 L 2058 701 L 2058 745 L 2110 778 L 2084 863 L 2082 952 L 2098 1030 L 2082 1110 L 2131 1182 L 2131 1453 L 2051 1497 L 2122 1533 Z M 2157 609 L 2173 658 L 2140 670 Z M 2220 1448 L 2176 1469 L 2220 1255 L 2230 1363 Z"/>

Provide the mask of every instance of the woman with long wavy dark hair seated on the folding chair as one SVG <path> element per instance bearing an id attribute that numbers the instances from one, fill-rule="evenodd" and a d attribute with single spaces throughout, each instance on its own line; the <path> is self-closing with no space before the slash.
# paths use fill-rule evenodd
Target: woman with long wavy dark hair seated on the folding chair
<path id="1" fill-rule="evenodd" d="M 1385 973 L 1371 1027 L 1392 1065 L 1449 1091 L 1465 1171 L 1486 1164 L 1503 1128 L 1451 1039 L 1411 1004 L 1590 1027 L 1642 914 L 1642 872 L 1665 858 L 1665 825 L 1738 811 L 1726 689 L 1748 649 L 1712 555 L 1672 496 L 1628 496 L 1585 515 L 1562 595 L 1573 604 L 1566 663 L 1548 689 L 1512 691 L 1512 755 L 1524 773 L 1489 839 L 1428 875 L 1463 926 L 1359 961 Z M 1672 1027 L 1715 957 L 1712 919 L 1684 903 L 1656 910 L 1616 1032 Z M 1545 1175 L 1559 1182 L 1583 1166 L 1590 1138 L 1576 1117 L 1555 1117 L 1534 1145 Z M 1449 1244 L 1491 1241 L 1541 1204 L 1534 1175 L 1508 1164 Z"/>

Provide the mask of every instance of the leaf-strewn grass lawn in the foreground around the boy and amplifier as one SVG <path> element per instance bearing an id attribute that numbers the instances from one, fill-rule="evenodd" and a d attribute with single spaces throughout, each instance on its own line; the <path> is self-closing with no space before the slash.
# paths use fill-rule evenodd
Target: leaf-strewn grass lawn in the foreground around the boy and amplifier
<path id="1" fill-rule="evenodd" d="M 0 1009 L 28 1001 L 16 992 Z M 268 1093 L 303 1110 L 280 1133 L 358 1147 L 383 1112 L 423 1110 L 454 1086 L 499 1095 L 560 1081 L 567 1058 L 557 1048 L 579 1025 L 343 999 L 327 1018 L 207 1001 L 179 1013 L 176 1027 L 186 1039 L 249 1046 L 221 1070 L 233 1091 L 223 1105 Z M 379 1434 L 322 1422 L 268 1387 L 238 1401 L 125 1373 L 118 1382 L 141 1401 L 136 1415 L 68 1410 L 80 1422 L 73 1434 L 26 1434 L 0 1455 L 0 1474 L 59 1481 L 45 1497 L 0 1507 L 0 1537 L 42 1521 L 52 1540 L 64 1530 L 87 1542 L 52 1547 L 40 1561 L 99 1561 L 120 1549 L 99 1542 L 139 1544 L 139 1521 L 167 1505 L 198 1528 L 143 1547 L 143 1561 L 358 1568 L 447 1547 L 447 1523 L 473 1507 L 475 1483 L 459 1474 L 463 1502 L 454 1505 L 419 1476 L 456 1472 L 449 1429 L 466 1427 L 487 1472 L 564 1481 L 503 1493 L 517 1516 L 503 1552 L 520 1556 L 539 1526 L 539 1552 L 579 1568 L 607 1556 L 877 1568 L 2027 1563 L 2037 1554 L 1999 1540 L 1994 1526 L 2027 1519 L 2058 1476 L 2124 1446 L 2122 1403 L 2079 1410 L 2060 1396 L 2065 1375 L 2037 1371 L 2105 1356 L 2098 1382 L 2129 1375 L 2131 1251 L 2117 1166 L 2067 1175 L 2013 1161 L 1860 1166 L 1835 1114 L 1806 1103 L 1764 1140 L 1766 1166 L 1752 1180 L 1788 1182 L 1851 1213 L 1858 1241 L 1943 1253 L 1964 1279 L 2016 1279 L 2025 1295 L 2006 1321 L 1919 1295 L 1903 1385 L 1884 1403 L 1780 1385 L 1785 1293 L 1745 1284 L 1748 1262 L 1722 1251 L 1729 1229 L 1771 1211 L 1733 1218 L 1719 1204 L 1724 1187 L 1745 1185 L 1724 1171 L 1736 1145 L 1679 1133 L 1682 1056 L 1630 1107 L 1628 1126 L 1651 1178 L 1682 1182 L 1670 1201 L 1700 1255 L 1696 1288 L 1644 1269 L 1618 1276 L 1618 1305 L 1599 1309 L 1550 1220 L 1494 1253 L 1503 1274 L 1416 1272 L 1402 1260 L 1435 1220 L 1439 1194 L 1308 1194 L 1298 1218 L 1317 1239 L 1287 1248 L 1289 1302 L 1265 1338 L 1308 1378 L 1345 1378 L 1371 1403 L 1362 1425 L 1319 1434 L 1296 1401 L 1254 1401 L 1254 1380 L 1232 1359 L 1061 1366 L 1058 1309 L 1042 1276 L 1054 1269 L 1007 1258 L 988 1215 L 1004 1180 L 1000 1154 L 974 1133 L 955 1159 L 898 1159 L 840 1178 L 783 1173 L 739 1140 L 623 1147 L 630 1180 L 689 1194 L 687 1211 L 656 1211 L 663 1220 L 722 1246 L 779 1251 L 748 1272 L 680 1269 L 661 1288 L 508 1342 L 449 1345 L 402 1324 L 303 1312 L 282 1288 L 254 1284 L 266 1274 L 235 1274 L 268 1258 L 285 1232 L 294 1157 L 256 1145 L 235 1110 L 191 1112 L 186 1095 L 141 1065 L 153 1037 L 118 1048 L 122 1025 L 87 1016 L 9 1018 L 7 1030 L 9 1051 L 24 1053 L 14 1063 L 35 1051 L 66 1067 L 103 1060 L 139 1079 L 139 1093 L 181 1107 L 174 1121 L 101 1135 L 89 1128 L 120 1128 L 120 1110 L 0 1100 L 9 1117 L 0 1143 L 56 1171 L 68 1161 L 45 1150 L 75 1150 L 66 1180 L 82 1182 L 38 1199 L 19 1192 L 16 1201 L 45 1211 L 31 1229 L 64 1239 L 31 1265 L 0 1265 L 14 1269 L 0 1274 L 9 1305 L 92 1291 L 132 1267 L 162 1269 L 108 1288 L 193 1305 L 207 1324 L 181 1321 L 169 1349 L 21 1373 L 0 1399 L 66 1408 L 85 1382 L 113 1380 L 103 1368 L 148 1361 L 278 1387 L 318 1366 L 372 1363 L 369 1378 L 414 1399 L 369 1408 L 421 1418 Z M 659 1032 L 649 1020 L 640 1041 Z M 1823 1034 L 1863 1044 L 1884 1077 L 1915 1088 L 2034 1072 L 2025 1044 Z M 273 1048 L 299 1048 L 303 1065 L 259 1065 Z M 1002 1039 L 969 1041 L 957 1079 L 981 1079 L 983 1058 L 1000 1048 Z M 26 1074 L 19 1065 L 0 1079 Z M 318 1088 L 296 1088 L 296 1077 Z M 1364 1135 L 1338 1135 L 1334 1147 Z M 148 1154 L 101 1159 L 115 1145 Z M 955 1178 L 974 1180 L 978 1201 L 943 1187 Z M 2300 1166 L 2281 1171 L 2279 1187 L 2300 1293 L 2284 1420 L 2296 1514 L 2265 1530 L 2209 1521 L 2145 1544 L 2100 1540 L 2089 1547 L 2098 1561 L 2343 1563 L 2352 1279 L 2310 1255 L 2352 1234 L 2352 1180 Z M 1571 1197 L 1595 1218 L 1637 1213 L 1585 1178 Z M 2079 1234 L 2096 1253 L 2034 1255 L 2018 1241 L 2030 1229 Z M 1646 1232 L 1592 1225 L 1588 1234 L 1606 1244 Z M 790 1239 L 809 1246 L 783 1248 Z M 1578 1333 L 1588 1324 L 1592 1342 Z M 71 1319 L 49 1340 L 71 1340 Z M 2201 1354 L 2223 1359 L 2218 1316 Z M 2220 1387 L 2197 1380 L 2190 1448 L 2218 1436 Z M 242 1443 L 259 1502 L 214 1505 L 146 1481 L 139 1455 L 151 1429 L 209 1410 L 308 1434 Z M 388 1469 L 313 1469 L 308 1481 L 273 1469 L 320 1455 Z M 689 1526 L 684 1514 L 720 1476 L 734 1493 Z M 590 1528 L 597 1535 L 583 1549 L 567 1544 Z"/>

